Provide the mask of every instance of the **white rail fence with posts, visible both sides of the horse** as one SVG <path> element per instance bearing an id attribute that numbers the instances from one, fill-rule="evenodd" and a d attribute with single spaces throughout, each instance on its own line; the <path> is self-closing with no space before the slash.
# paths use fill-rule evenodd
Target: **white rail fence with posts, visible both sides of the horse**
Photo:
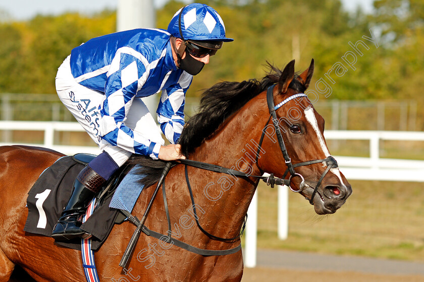
<path id="1" fill-rule="evenodd" d="M 76 122 L 49 121 L 0 121 L 0 130 L 13 131 L 44 131 L 43 144 L 23 144 L 41 146 L 62 152 L 67 155 L 76 153 L 99 154 L 95 146 L 61 146 L 56 145 L 56 131 L 83 131 Z M 389 180 L 424 182 L 424 161 L 380 158 L 381 140 L 400 140 L 424 142 L 424 132 L 415 131 L 362 131 L 362 130 L 327 130 L 327 140 L 368 140 L 369 158 L 335 156 L 340 170 L 347 179 L 357 180 Z M 0 143 L 12 145 L 12 143 Z M 257 195 L 248 210 L 248 220 L 245 231 L 246 247 L 244 263 L 246 267 L 256 265 L 256 234 L 257 234 Z M 278 237 L 282 240 L 288 235 L 288 188 L 278 187 Z"/>

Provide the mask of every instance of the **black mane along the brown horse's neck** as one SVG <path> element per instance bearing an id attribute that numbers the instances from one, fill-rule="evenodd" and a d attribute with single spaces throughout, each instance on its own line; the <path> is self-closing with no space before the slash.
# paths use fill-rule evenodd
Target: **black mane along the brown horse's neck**
<path id="1" fill-rule="evenodd" d="M 186 122 L 179 139 L 179 144 L 181 144 L 185 156 L 194 152 L 205 139 L 217 131 L 225 120 L 253 97 L 265 91 L 271 85 L 278 83 L 283 70 L 269 62 L 267 62 L 267 67 L 269 72 L 260 81 L 256 79 L 243 82 L 225 81 L 215 84 L 202 93 L 198 112 Z M 296 77 L 297 74 L 295 74 Z M 289 87 L 298 92 L 306 90 L 297 79 L 293 79 Z M 158 180 L 160 172 L 165 166 L 163 161 L 153 161 L 141 155 L 133 155 L 129 163 L 142 166 L 138 173 L 146 174 L 146 177 L 142 179 L 142 184 L 146 187 Z"/>

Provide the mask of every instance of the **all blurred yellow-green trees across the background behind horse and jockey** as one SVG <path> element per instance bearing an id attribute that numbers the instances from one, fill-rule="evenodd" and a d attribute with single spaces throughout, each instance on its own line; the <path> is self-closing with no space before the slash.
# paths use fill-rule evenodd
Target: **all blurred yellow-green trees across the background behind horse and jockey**
<path id="1" fill-rule="evenodd" d="M 340 0 L 205 0 L 222 16 L 227 36 L 210 63 L 195 77 L 189 96 L 223 81 L 242 81 L 264 76 L 270 61 L 283 67 L 292 58 L 296 70 L 315 59 L 311 90 L 331 95 L 320 99 L 415 99 L 424 86 L 424 1 L 378 0 L 375 13 L 347 13 Z M 169 1 L 157 11 L 157 27 L 166 29 L 183 2 Z M 104 11 L 92 16 L 67 13 L 37 16 L 27 22 L 0 22 L 0 93 L 55 93 L 56 70 L 71 49 L 88 39 L 115 31 L 116 14 Z M 377 46 L 364 39 L 378 40 Z M 349 42 L 361 40 L 359 55 Z M 350 67 L 344 60 L 356 56 Z M 350 56 L 354 60 L 353 56 Z M 345 65 L 343 75 L 335 64 Z M 331 72 L 330 72 L 331 71 Z M 330 73 L 329 73 L 330 72 Z M 328 78 L 327 76 L 330 76 Z M 331 81 L 332 80 L 332 81 Z M 318 89 L 319 88 L 319 89 Z M 323 92 L 323 91 L 322 91 Z M 328 93 L 327 93 L 328 94 Z"/>

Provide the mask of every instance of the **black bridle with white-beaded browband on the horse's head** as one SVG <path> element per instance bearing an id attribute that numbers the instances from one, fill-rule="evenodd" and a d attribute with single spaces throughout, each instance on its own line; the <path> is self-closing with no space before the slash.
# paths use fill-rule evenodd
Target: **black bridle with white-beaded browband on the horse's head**
<path id="1" fill-rule="evenodd" d="M 329 156 L 326 159 L 322 159 L 322 160 L 312 160 L 312 161 L 302 162 L 302 163 L 298 163 L 298 164 L 294 164 L 294 165 L 292 164 L 291 159 L 289 157 L 289 154 L 287 153 L 286 146 L 284 145 L 283 135 L 281 134 L 277 114 L 276 114 L 275 111 L 277 109 L 279 109 L 281 106 L 283 106 L 284 104 L 286 104 L 287 102 L 289 102 L 289 101 L 291 101 L 295 98 L 307 97 L 307 96 L 304 93 L 298 93 L 298 94 L 290 96 L 289 98 L 285 99 L 284 101 L 279 103 L 277 106 L 275 106 L 274 105 L 274 95 L 273 95 L 274 88 L 275 88 L 275 85 L 272 85 L 267 90 L 267 102 L 268 102 L 268 109 L 270 111 L 270 118 L 268 119 L 267 123 L 265 124 L 265 126 L 262 129 L 262 135 L 260 136 L 259 146 L 258 146 L 258 150 L 257 150 L 257 154 L 256 154 L 256 163 L 258 161 L 259 153 L 261 151 L 263 137 L 265 136 L 265 131 L 266 131 L 265 129 L 268 126 L 268 124 L 269 124 L 269 122 L 272 118 L 273 125 L 274 125 L 274 128 L 275 128 L 275 133 L 277 135 L 277 140 L 278 140 L 278 143 L 280 145 L 281 152 L 283 153 L 284 162 L 286 163 L 286 166 L 287 166 L 287 170 L 284 172 L 283 179 L 280 179 L 280 180 L 283 180 L 285 185 L 287 185 L 286 182 L 288 182 L 287 186 L 289 186 L 290 190 L 292 190 L 293 192 L 302 192 L 303 189 L 305 189 L 305 179 L 303 178 L 303 176 L 301 174 L 296 173 L 294 168 L 301 167 L 301 166 L 307 166 L 307 165 L 311 165 L 311 164 L 323 163 L 323 162 L 326 162 L 326 164 L 327 164 L 327 169 L 321 175 L 320 180 L 316 183 L 315 188 L 313 189 L 312 195 L 309 199 L 309 203 L 313 205 L 313 198 L 314 198 L 316 192 L 318 191 L 318 188 L 320 187 L 321 182 L 323 181 L 324 177 L 326 176 L 326 174 L 329 172 L 329 170 L 331 168 L 337 168 L 338 164 L 337 164 L 337 161 L 332 156 Z M 288 181 L 284 181 L 284 180 L 286 180 L 285 178 L 286 178 L 288 173 L 290 173 L 290 177 L 289 177 Z M 275 178 L 274 178 L 273 175 L 271 175 L 271 177 L 272 177 L 271 180 L 270 179 L 267 180 L 267 184 L 274 187 L 274 183 L 272 182 L 272 180 L 275 179 Z M 291 180 L 292 180 L 293 177 L 300 177 L 300 179 L 301 179 L 298 190 L 295 190 L 290 186 L 290 183 L 291 183 Z M 276 178 L 276 179 L 279 179 L 279 178 Z"/>

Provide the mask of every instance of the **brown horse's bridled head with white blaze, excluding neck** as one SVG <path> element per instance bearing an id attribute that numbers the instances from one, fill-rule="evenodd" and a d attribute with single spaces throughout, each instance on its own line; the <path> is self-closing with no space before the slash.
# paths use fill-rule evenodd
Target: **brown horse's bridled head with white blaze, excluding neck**
<path id="1" fill-rule="evenodd" d="M 290 189 L 305 196 L 317 214 L 335 213 L 352 188 L 327 148 L 324 118 L 303 94 L 312 78 L 313 59 L 300 75 L 294 73 L 294 60 L 277 72 L 279 78 L 275 70 L 265 78 L 278 82 L 268 90 L 271 118 L 263 129 L 264 156 L 258 167 L 289 178 Z"/>

